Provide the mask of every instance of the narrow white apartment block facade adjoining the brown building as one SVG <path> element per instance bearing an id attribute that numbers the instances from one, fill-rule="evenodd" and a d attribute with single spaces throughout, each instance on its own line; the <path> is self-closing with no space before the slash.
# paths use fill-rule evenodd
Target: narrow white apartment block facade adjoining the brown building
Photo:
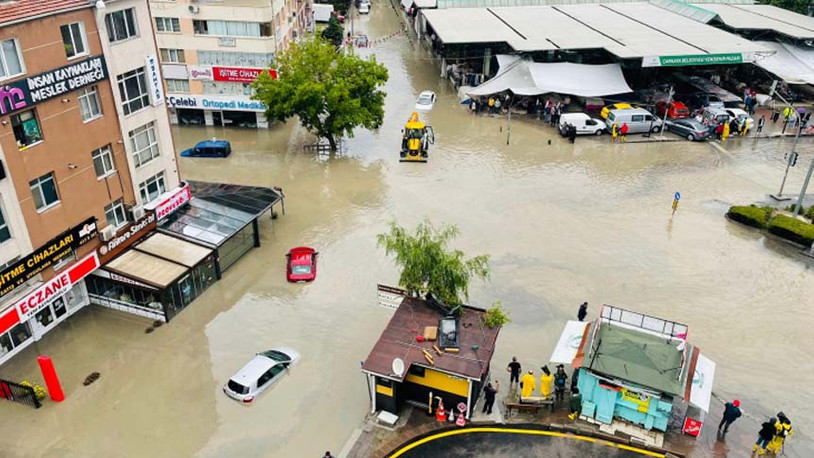
<path id="1" fill-rule="evenodd" d="M 100 0 L 95 16 L 136 203 L 144 205 L 179 185 L 150 8 L 146 0 Z"/>

